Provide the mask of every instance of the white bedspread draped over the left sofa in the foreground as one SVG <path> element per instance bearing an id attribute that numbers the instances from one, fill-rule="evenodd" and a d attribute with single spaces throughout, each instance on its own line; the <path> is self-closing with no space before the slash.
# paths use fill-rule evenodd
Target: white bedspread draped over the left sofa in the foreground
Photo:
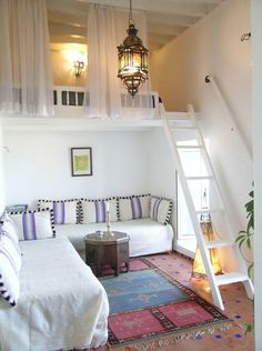
<path id="1" fill-rule="evenodd" d="M 0 301 L 1 351 L 52 351 L 107 342 L 103 287 L 67 238 L 21 242 L 21 294 Z"/>

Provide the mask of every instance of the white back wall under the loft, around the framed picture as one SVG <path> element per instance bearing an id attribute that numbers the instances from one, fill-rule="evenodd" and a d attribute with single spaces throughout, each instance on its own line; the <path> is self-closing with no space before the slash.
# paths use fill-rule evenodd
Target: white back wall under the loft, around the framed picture
<path id="1" fill-rule="evenodd" d="M 147 132 L 7 131 L 7 204 L 149 192 Z M 91 147 L 92 177 L 71 177 L 71 147 Z"/>

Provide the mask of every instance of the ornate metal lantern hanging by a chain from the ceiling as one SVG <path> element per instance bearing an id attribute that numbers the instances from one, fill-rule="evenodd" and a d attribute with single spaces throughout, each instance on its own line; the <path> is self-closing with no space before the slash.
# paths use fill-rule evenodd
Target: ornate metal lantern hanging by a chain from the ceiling
<path id="1" fill-rule="evenodd" d="M 132 19 L 132 0 L 130 0 L 128 37 L 118 47 L 119 71 L 118 77 L 134 97 L 139 87 L 148 79 L 148 52 L 142 40 L 137 36 L 138 29 Z"/>

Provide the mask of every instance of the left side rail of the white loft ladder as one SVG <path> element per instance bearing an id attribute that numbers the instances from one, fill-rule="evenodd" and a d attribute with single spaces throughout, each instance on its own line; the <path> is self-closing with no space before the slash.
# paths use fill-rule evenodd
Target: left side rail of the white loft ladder
<path id="1" fill-rule="evenodd" d="M 223 301 L 222 301 L 222 298 L 220 294 L 220 290 L 219 290 L 216 282 L 215 282 L 215 275 L 214 275 L 211 262 L 208 259 L 209 249 L 206 248 L 204 239 L 203 239 L 202 230 L 201 230 L 201 227 L 200 227 L 200 223 L 198 220 L 198 214 L 195 212 L 194 203 L 193 203 L 190 190 L 189 190 L 187 179 L 184 177 L 183 168 L 182 168 L 182 164 L 180 161 L 180 156 L 179 156 L 179 152 L 177 151 L 177 144 L 172 139 L 169 121 L 165 118 L 165 110 L 164 110 L 163 106 L 160 106 L 160 116 L 162 118 L 165 136 L 167 136 L 167 139 L 168 139 L 170 148 L 171 148 L 174 167 L 180 176 L 180 182 L 181 182 L 181 187 L 182 187 L 182 190 L 184 193 L 187 207 L 188 207 L 190 218 L 192 221 L 192 225 L 193 225 L 193 229 L 195 232 L 195 237 L 196 237 L 199 249 L 200 249 L 200 252 L 202 255 L 204 269 L 205 269 L 206 275 L 209 277 L 209 282 L 210 282 L 210 288 L 211 288 L 213 301 L 218 307 L 220 307 L 220 309 L 223 310 L 224 307 L 223 307 Z"/>

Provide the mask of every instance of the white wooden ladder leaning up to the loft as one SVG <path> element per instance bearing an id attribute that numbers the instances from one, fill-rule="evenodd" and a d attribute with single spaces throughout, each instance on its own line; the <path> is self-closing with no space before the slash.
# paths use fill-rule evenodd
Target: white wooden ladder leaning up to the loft
<path id="1" fill-rule="evenodd" d="M 177 117 L 172 112 L 165 112 L 164 107 L 160 103 L 160 114 L 163 122 L 163 128 L 165 137 L 169 141 L 171 152 L 173 156 L 174 168 L 177 169 L 181 188 L 184 194 L 185 203 L 188 207 L 189 215 L 192 222 L 192 227 L 195 233 L 198 247 L 201 252 L 202 261 L 204 264 L 205 273 L 210 283 L 210 289 L 213 298 L 213 302 L 221 310 L 224 310 L 224 304 L 220 293 L 220 285 L 230 284 L 234 282 L 243 282 L 245 287 L 246 294 L 250 299 L 253 299 L 254 288 L 253 283 L 248 275 L 246 264 L 239 251 L 238 245 L 235 244 L 234 231 L 230 223 L 230 209 L 226 208 L 226 202 L 223 198 L 220 184 L 215 178 L 214 169 L 212 167 L 209 153 L 206 151 L 204 138 L 196 122 L 195 113 L 192 106 L 188 106 L 187 117 Z M 178 136 L 181 133 L 193 133 L 192 137 L 183 137 L 182 142 L 181 138 Z M 189 142 L 187 140 L 190 140 Z M 192 142 L 193 140 L 193 142 Z M 185 143 L 188 142 L 188 143 Z M 198 150 L 203 158 L 203 164 L 205 172 L 204 174 L 190 174 L 187 176 L 187 170 L 184 169 L 183 163 L 183 151 L 185 150 Z M 216 200 L 219 199 L 220 205 L 215 204 L 216 208 L 209 209 L 198 209 L 193 195 L 192 195 L 192 181 L 206 181 L 209 182 L 209 192 L 211 194 L 216 194 Z M 210 197 L 211 198 L 211 197 Z M 215 198 L 215 197 L 214 197 Z M 212 199 L 211 199 L 212 200 Z M 212 202 L 212 201 L 211 201 Z M 216 239 L 214 241 L 206 241 L 201 227 L 200 227 L 200 214 L 206 213 L 211 215 L 213 222 L 213 215 L 220 213 L 223 217 L 223 223 L 226 223 L 226 238 Z M 221 228 L 223 231 L 223 228 Z M 231 271 L 225 271 L 223 274 L 215 275 L 212 269 L 212 263 L 210 260 L 209 250 L 218 248 L 218 250 L 229 250 L 225 254 L 230 254 L 230 259 L 234 261 L 234 269 Z"/>

